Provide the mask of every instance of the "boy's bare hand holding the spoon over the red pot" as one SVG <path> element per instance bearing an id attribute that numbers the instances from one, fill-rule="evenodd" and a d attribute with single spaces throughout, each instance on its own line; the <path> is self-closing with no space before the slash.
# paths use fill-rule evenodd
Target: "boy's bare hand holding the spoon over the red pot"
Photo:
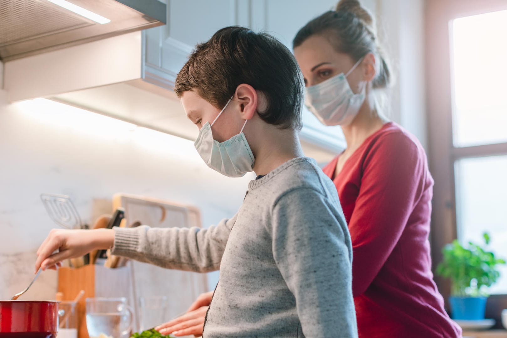
<path id="1" fill-rule="evenodd" d="M 80 257 L 92 250 L 108 249 L 113 246 L 114 240 L 115 234 L 111 229 L 53 229 L 37 250 L 35 272 L 39 268 L 54 268 L 64 259 Z"/>

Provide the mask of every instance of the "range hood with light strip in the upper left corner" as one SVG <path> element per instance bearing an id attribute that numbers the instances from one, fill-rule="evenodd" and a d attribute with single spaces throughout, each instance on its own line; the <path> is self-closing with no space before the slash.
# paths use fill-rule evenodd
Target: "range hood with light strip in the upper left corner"
<path id="1" fill-rule="evenodd" d="M 0 0 L 0 60 L 10 61 L 166 23 L 166 5 L 158 0 L 65 2 L 111 20 L 104 24 L 53 2 Z"/>

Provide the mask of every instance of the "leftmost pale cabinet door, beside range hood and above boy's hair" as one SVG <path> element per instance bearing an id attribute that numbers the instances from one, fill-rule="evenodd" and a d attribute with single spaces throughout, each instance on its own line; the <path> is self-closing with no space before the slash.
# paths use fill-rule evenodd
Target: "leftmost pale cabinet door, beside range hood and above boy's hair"
<path id="1" fill-rule="evenodd" d="M 264 26 L 265 2 L 252 0 L 167 1 L 165 26 L 143 31 L 143 78 L 172 90 L 178 71 L 197 43 L 222 27 Z"/>

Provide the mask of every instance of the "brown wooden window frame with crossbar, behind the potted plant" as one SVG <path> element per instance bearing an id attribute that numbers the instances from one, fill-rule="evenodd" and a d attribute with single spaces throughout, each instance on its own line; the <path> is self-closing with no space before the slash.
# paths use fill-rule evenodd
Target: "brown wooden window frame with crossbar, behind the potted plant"
<path id="1" fill-rule="evenodd" d="M 428 162 L 435 181 L 431 216 L 433 273 L 442 260 L 442 248 L 457 238 L 454 162 L 463 158 L 507 155 L 507 142 L 454 147 L 452 134 L 453 83 L 450 22 L 460 17 L 507 10 L 505 0 L 427 0 L 425 25 Z M 446 306 L 450 282 L 435 276 Z M 502 328 L 500 312 L 507 309 L 507 294 L 491 295 L 486 318 Z"/>

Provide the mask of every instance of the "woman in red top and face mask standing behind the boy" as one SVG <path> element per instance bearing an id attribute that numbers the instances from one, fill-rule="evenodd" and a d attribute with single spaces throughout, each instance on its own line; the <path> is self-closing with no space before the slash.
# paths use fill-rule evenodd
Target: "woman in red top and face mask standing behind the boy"
<path id="1" fill-rule="evenodd" d="M 461 337 L 432 280 L 433 180 L 419 141 L 385 118 L 390 72 L 371 15 L 356 0 L 341 1 L 301 28 L 293 44 L 309 109 L 323 124 L 341 125 L 347 141 L 323 171 L 352 239 L 359 337 Z M 199 334 L 210 296 L 158 329 Z"/>

